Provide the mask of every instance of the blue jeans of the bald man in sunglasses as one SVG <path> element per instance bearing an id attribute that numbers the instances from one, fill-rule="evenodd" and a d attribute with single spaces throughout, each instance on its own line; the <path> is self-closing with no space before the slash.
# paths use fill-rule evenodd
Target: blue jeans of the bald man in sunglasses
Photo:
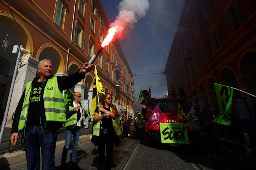
<path id="1" fill-rule="evenodd" d="M 65 162 L 66 162 L 67 154 L 68 154 L 68 147 L 71 143 L 72 135 L 73 135 L 74 140 L 73 140 L 71 161 L 76 162 L 76 153 L 77 153 L 78 140 L 79 140 L 80 133 L 81 133 L 80 127 L 74 127 L 73 130 L 66 129 L 66 141 L 65 141 L 65 146 L 62 151 L 61 163 L 65 164 Z"/>

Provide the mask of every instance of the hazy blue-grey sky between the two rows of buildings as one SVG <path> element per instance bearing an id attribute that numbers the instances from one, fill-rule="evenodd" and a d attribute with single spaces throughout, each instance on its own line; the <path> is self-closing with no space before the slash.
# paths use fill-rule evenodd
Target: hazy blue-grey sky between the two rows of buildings
<path id="1" fill-rule="evenodd" d="M 118 15 L 120 1 L 101 0 L 110 23 Z M 164 72 L 184 4 L 184 0 L 148 1 L 147 15 L 134 24 L 129 37 L 119 40 L 132 73 Z M 167 92 L 163 74 L 134 75 L 133 80 L 137 96 L 140 87 L 148 90 L 151 86 L 151 98 L 162 98 Z"/>

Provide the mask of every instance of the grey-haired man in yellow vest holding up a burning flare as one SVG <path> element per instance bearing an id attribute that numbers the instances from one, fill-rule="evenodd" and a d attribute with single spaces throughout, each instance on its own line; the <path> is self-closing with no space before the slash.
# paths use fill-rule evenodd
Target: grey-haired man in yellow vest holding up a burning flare
<path id="1" fill-rule="evenodd" d="M 52 63 L 48 59 L 38 63 L 39 76 L 27 83 L 19 100 L 12 122 L 11 143 L 16 145 L 18 132 L 25 131 L 27 169 L 55 169 L 54 153 L 57 129 L 66 121 L 63 90 L 75 86 L 85 78 L 94 64 L 84 63 L 74 74 L 52 76 Z M 57 109 L 58 108 L 58 109 Z"/>

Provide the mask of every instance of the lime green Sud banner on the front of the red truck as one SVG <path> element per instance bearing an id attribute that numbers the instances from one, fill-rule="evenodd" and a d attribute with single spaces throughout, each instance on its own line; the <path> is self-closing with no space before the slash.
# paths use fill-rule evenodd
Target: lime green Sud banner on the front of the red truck
<path id="1" fill-rule="evenodd" d="M 160 123 L 162 143 L 189 144 L 187 127 L 184 123 Z"/>

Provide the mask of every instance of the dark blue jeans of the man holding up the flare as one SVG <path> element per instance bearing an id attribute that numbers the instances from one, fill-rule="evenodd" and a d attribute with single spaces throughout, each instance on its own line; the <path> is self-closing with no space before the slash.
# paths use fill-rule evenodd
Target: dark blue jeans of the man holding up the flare
<path id="1" fill-rule="evenodd" d="M 56 130 L 46 135 L 41 126 L 27 126 L 25 141 L 28 170 L 40 169 L 40 147 L 43 170 L 55 169 L 54 154 L 57 141 Z"/>

